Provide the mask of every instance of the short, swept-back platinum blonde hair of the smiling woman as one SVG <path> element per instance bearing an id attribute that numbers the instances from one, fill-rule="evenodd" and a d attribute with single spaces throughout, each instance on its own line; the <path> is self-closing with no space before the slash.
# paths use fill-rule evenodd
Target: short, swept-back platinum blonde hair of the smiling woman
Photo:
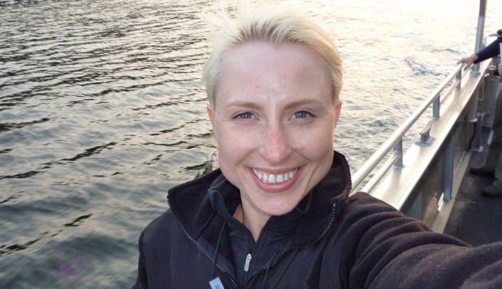
<path id="1" fill-rule="evenodd" d="M 203 18 L 214 27 L 213 38 L 209 39 L 212 51 L 202 73 L 211 106 L 216 105 L 218 76 L 226 52 L 254 40 L 301 43 L 318 53 L 331 78 L 333 103 L 338 105 L 342 90 L 340 53 L 331 36 L 308 16 L 286 6 L 265 4 L 265 1 L 256 4 L 239 1 L 234 19 L 222 6 L 219 11 L 204 12 Z"/>

